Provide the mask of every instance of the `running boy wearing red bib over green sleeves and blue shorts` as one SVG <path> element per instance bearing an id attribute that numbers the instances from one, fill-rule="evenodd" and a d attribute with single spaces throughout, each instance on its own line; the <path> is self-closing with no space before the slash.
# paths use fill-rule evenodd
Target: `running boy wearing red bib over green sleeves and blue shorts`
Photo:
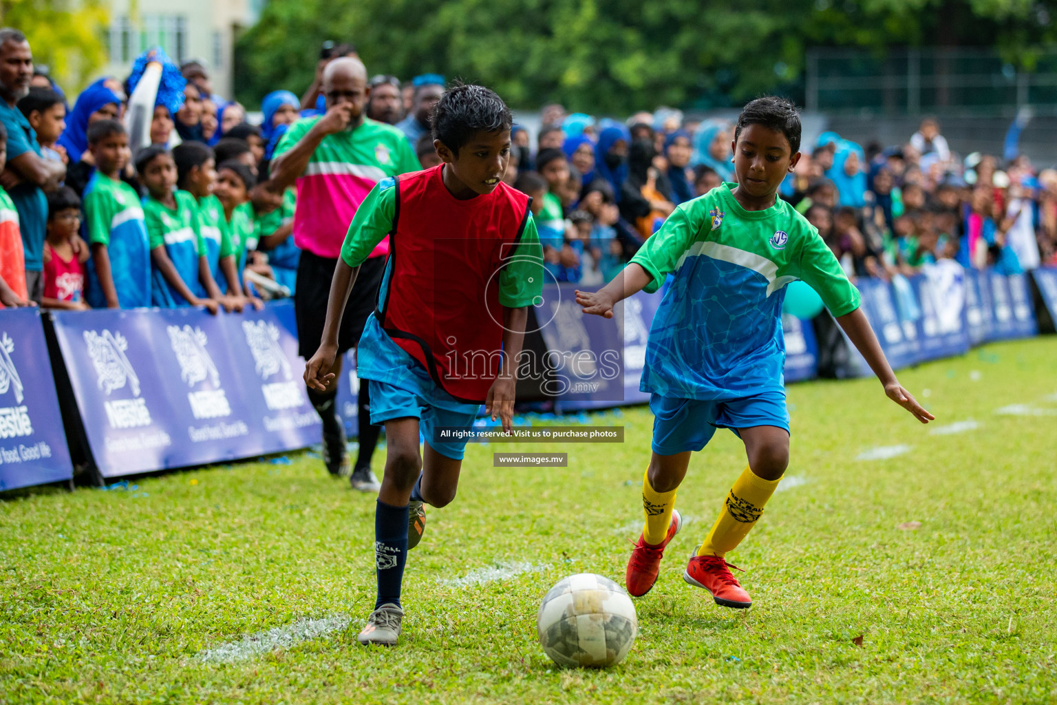
<path id="1" fill-rule="evenodd" d="M 327 371 L 357 270 L 390 236 L 357 352 L 371 423 L 385 425 L 387 446 L 374 519 L 378 594 L 361 644 L 396 644 L 407 552 L 425 527 L 423 502 L 455 499 L 465 447 L 459 431 L 472 428 L 481 404 L 511 429 L 527 307 L 541 302 L 543 276 L 531 199 L 502 183 L 512 123 L 486 88 L 444 94 L 432 116 L 442 164 L 384 179 L 359 206 L 334 271 L 322 341 L 304 371 L 317 390 L 334 376 Z"/>

